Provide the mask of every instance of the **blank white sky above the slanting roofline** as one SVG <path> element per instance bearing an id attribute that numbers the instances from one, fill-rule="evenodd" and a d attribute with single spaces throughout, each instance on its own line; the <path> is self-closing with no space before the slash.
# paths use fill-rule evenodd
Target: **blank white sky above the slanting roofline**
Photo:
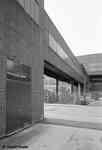
<path id="1" fill-rule="evenodd" d="M 76 56 L 102 53 L 102 0 L 45 0 L 45 10 Z"/>

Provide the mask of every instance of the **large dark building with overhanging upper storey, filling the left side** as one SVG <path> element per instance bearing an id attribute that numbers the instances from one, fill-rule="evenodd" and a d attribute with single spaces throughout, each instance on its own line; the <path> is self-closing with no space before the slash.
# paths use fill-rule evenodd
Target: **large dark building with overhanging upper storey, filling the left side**
<path id="1" fill-rule="evenodd" d="M 90 84 L 43 0 L 0 0 L 0 136 L 44 118 L 44 75 L 56 80 L 56 98 L 68 83 L 75 104 Z"/>

